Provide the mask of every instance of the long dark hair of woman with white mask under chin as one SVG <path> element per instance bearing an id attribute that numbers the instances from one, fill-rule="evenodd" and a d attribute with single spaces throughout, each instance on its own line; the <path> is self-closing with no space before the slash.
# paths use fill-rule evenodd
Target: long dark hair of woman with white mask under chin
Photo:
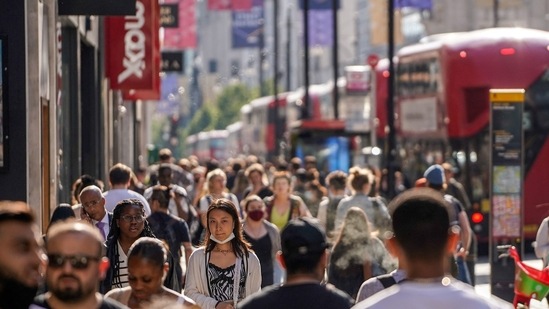
<path id="1" fill-rule="evenodd" d="M 235 237 L 231 240 L 231 245 L 233 246 L 234 253 L 236 256 L 241 258 L 248 257 L 250 251 L 252 251 L 252 246 L 242 236 L 242 224 L 240 223 L 236 206 L 233 202 L 225 198 L 220 198 L 213 201 L 210 204 L 210 207 L 208 207 L 208 212 L 206 213 L 206 238 L 204 243 L 206 252 L 211 252 L 215 248 L 215 245 L 217 245 L 215 241 L 210 239 L 210 220 L 208 220 L 210 213 L 214 210 L 222 210 L 233 218 L 233 233 Z"/>

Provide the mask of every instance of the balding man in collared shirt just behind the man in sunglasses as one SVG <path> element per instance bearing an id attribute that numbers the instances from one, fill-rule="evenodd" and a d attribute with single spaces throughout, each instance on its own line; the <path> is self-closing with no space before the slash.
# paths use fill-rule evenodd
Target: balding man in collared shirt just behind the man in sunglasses
<path id="1" fill-rule="evenodd" d="M 110 232 L 112 213 L 105 208 L 105 198 L 101 189 L 97 186 L 85 187 L 80 192 L 80 201 L 82 203 L 81 218 L 97 227 L 103 239 L 106 240 Z"/>

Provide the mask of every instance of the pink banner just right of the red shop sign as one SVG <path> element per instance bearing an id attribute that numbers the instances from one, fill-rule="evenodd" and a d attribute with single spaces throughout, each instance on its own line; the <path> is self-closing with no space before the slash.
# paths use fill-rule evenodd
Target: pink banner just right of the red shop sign
<path id="1" fill-rule="evenodd" d="M 164 28 L 162 47 L 168 49 L 196 48 L 196 0 L 167 0 L 179 4 L 179 26 Z"/>

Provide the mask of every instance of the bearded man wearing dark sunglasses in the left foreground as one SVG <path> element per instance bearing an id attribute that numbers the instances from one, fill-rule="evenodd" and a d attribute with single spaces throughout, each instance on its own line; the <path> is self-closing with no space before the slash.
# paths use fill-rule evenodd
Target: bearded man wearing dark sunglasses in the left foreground
<path id="1" fill-rule="evenodd" d="M 31 308 L 125 308 L 98 292 L 109 260 L 103 257 L 97 229 L 84 222 L 63 222 L 53 225 L 47 237 L 49 292 L 38 295 Z"/>

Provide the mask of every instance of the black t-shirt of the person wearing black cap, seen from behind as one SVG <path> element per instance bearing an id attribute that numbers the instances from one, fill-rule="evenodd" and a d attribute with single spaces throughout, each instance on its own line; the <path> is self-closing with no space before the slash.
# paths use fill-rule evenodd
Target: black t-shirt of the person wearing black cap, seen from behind
<path id="1" fill-rule="evenodd" d="M 317 283 L 269 286 L 244 299 L 239 309 L 348 309 L 354 300 L 333 285 Z"/>

